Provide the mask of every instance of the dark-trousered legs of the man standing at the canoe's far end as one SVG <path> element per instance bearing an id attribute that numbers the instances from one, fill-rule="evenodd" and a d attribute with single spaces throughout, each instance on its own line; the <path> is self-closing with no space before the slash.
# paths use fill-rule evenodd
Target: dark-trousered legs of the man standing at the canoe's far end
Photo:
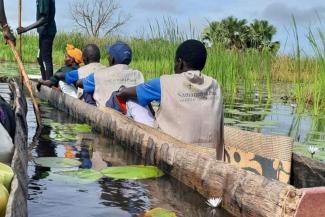
<path id="1" fill-rule="evenodd" d="M 45 79 L 49 80 L 53 76 L 52 47 L 55 35 L 42 36 L 41 40 L 41 57 L 45 68 Z"/>

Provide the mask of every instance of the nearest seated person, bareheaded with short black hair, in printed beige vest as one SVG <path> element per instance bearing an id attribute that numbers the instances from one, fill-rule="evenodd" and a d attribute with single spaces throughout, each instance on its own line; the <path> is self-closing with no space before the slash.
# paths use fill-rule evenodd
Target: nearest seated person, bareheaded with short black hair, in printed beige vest
<path id="1" fill-rule="evenodd" d="M 202 73 L 206 59 L 205 46 L 187 40 L 177 48 L 175 74 L 125 88 L 118 96 L 142 106 L 160 102 L 158 128 L 180 141 L 216 148 L 223 160 L 223 98 L 217 81 Z"/>

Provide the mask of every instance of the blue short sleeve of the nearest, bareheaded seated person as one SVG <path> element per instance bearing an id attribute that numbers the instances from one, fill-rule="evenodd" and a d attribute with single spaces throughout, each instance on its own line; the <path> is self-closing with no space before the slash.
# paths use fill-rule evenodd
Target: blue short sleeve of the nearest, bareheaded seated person
<path id="1" fill-rule="evenodd" d="M 160 102 L 161 87 L 160 78 L 155 78 L 136 87 L 138 103 L 146 107 L 152 101 Z"/>

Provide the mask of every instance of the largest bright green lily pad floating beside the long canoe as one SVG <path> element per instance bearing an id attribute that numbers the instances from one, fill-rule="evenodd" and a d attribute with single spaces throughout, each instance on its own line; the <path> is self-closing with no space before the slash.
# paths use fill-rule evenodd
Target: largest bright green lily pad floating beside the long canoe
<path id="1" fill-rule="evenodd" d="M 143 165 L 107 167 L 100 172 L 110 178 L 132 180 L 157 178 L 164 175 L 157 167 Z"/>

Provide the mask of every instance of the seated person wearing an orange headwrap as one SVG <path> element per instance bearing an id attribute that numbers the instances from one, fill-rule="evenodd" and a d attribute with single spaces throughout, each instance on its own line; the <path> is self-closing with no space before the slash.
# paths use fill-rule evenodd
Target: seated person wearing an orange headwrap
<path id="1" fill-rule="evenodd" d="M 67 44 L 64 59 L 64 66 L 62 66 L 55 74 L 50 78 L 50 80 L 40 80 L 37 84 L 37 89 L 39 90 L 41 85 L 45 85 L 48 87 L 59 87 L 59 83 L 61 80 L 64 80 L 65 74 L 72 71 L 77 70 L 79 65 L 83 63 L 82 59 L 82 51 L 78 48 L 75 48 L 71 44 Z"/>

